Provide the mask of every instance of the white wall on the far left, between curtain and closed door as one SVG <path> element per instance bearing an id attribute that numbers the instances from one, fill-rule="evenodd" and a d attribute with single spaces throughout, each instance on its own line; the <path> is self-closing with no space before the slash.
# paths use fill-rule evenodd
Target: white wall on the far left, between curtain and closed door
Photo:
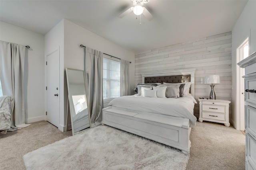
<path id="1" fill-rule="evenodd" d="M 0 39 L 20 45 L 26 49 L 24 67 L 25 121 L 32 123 L 45 120 L 44 109 L 44 35 L 0 21 Z"/>

